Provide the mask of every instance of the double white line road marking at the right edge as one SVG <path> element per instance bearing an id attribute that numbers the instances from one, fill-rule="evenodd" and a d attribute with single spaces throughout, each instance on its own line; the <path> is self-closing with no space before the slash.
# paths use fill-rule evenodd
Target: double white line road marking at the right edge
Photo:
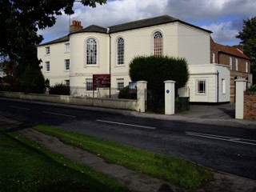
<path id="1" fill-rule="evenodd" d="M 232 137 L 226 137 L 226 136 L 216 135 L 216 134 L 201 134 L 201 133 L 194 133 L 189 131 L 186 131 L 185 133 L 189 135 L 197 136 L 197 137 L 202 137 L 202 138 L 213 138 L 213 139 L 223 140 L 227 142 L 239 142 L 239 143 L 256 146 L 256 140 L 252 140 L 252 139 L 232 138 Z"/>

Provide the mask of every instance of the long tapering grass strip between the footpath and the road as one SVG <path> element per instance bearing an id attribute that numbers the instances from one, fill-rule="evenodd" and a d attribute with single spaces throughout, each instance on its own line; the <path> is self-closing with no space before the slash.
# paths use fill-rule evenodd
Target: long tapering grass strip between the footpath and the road
<path id="1" fill-rule="evenodd" d="M 206 184 L 212 176 L 211 171 L 206 167 L 181 158 L 155 154 L 84 134 L 60 130 L 52 126 L 35 126 L 34 128 L 45 134 L 60 138 L 62 142 L 97 154 L 104 158 L 106 162 L 126 166 L 139 173 L 161 178 L 184 189 L 198 189 Z"/>

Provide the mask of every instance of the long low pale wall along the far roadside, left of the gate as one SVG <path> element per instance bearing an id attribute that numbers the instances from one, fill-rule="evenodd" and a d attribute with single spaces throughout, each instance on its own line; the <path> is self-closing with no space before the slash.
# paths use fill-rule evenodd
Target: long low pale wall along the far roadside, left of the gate
<path id="1" fill-rule="evenodd" d="M 114 99 L 114 98 L 78 98 L 68 95 L 54 94 L 23 94 L 18 92 L 0 91 L 2 98 L 19 98 L 38 102 L 55 102 L 64 104 L 74 104 L 81 106 L 100 106 L 112 109 L 137 110 L 138 102 L 132 99 Z"/>

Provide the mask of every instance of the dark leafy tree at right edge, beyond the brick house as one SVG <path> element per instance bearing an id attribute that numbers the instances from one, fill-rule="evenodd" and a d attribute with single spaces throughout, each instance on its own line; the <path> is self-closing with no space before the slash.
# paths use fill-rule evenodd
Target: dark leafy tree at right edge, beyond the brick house
<path id="1" fill-rule="evenodd" d="M 241 39 L 244 53 L 251 59 L 251 73 L 253 83 L 256 83 L 256 17 L 243 21 L 242 31 L 236 36 Z"/>

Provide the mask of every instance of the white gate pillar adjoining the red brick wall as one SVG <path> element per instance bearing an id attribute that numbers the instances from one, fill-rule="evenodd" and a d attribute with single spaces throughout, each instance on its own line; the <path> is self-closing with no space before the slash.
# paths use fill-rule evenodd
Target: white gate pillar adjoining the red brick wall
<path id="1" fill-rule="evenodd" d="M 243 92 L 246 90 L 245 78 L 234 80 L 235 83 L 235 118 L 243 119 Z"/>

